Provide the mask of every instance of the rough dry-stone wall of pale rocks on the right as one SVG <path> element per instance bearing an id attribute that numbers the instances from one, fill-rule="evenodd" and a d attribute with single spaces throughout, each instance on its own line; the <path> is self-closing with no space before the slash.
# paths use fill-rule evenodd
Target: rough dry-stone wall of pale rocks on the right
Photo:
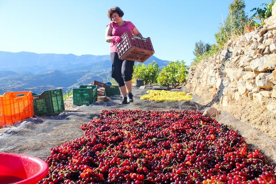
<path id="1" fill-rule="evenodd" d="M 276 3 L 272 14 L 266 25 L 190 68 L 186 87 L 204 105 L 225 107 L 246 97 L 276 112 Z"/>

